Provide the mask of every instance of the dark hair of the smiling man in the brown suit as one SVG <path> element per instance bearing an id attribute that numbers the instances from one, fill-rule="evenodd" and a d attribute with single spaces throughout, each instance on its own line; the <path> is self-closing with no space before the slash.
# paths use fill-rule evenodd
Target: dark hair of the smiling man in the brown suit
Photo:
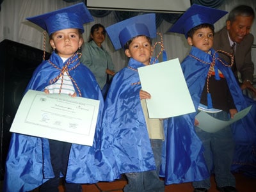
<path id="1" fill-rule="evenodd" d="M 253 19 L 255 18 L 255 13 L 253 9 L 250 6 L 247 5 L 239 5 L 235 7 L 228 15 L 227 20 L 230 20 L 231 22 L 234 22 L 236 20 L 237 16 L 243 16 L 243 17 L 250 17 L 252 16 Z"/>

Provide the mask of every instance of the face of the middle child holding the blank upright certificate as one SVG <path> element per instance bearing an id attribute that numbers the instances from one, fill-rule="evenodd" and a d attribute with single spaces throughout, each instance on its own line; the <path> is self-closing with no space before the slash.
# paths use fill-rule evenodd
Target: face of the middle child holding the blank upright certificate
<path id="1" fill-rule="evenodd" d="M 151 44 L 146 36 L 138 36 L 134 38 L 129 45 L 129 49 L 125 49 L 125 54 L 129 58 L 133 58 L 136 61 L 149 64 L 151 53 Z"/>

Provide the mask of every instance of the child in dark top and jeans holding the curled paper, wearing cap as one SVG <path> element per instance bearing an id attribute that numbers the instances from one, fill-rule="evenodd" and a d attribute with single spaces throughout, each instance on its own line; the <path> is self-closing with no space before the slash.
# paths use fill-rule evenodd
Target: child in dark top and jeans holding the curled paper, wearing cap
<path id="1" fill-rule="evenodd" d="M 182 33 L 192 45 L 189 56 L 181 66 L 188 84 L 195 108 L 205 111 L 220 120 L 229 120 L 237 111 L 246 108 L 243 94 L 236 79 L 218 52 L 212 49 L 214 22 L 227 12 L 193 5 L 173 24 L 170 31 Z M 227 53 L 228 54 L 228 53 Z M 231 55 L 230 55 L 231 56 Z M 235 142 L 230 126 L 217 132 L 206 132 L 196 125 L 196 113 L 182 116 L 182 129 L 193 129 L 204 145 L 205 161 L 211 173 L 215 173 L 217 188 L 220 191 L 236 191 L 236 181 L 230 172 L 234 156 Z M 194 192 L 207 191 L 210 179 L 195 180 Z"/>

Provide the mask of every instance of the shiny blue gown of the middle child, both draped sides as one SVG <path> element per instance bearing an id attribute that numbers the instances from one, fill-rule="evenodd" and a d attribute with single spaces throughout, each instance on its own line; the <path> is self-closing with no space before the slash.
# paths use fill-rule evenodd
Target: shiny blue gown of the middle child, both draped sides
<path id="1" fill-rule="evenodd" d="M 104 135 L 106 139 L 103 140 L 102 151 L 114 151 L 114 158 L 120 173 L 156 169 L 140 104 L 141 85 L 136 71 L 137 68 L 144 66 L 131 58 L 128 66 L 113 77 L 104 104 L 102 127 L 107 130 L 108 134 Z M 209 177 L 209 174 L 205 173 L 207 168 L 204 162 L 201 163 L 204 160 L 202 153 L 200 157 L 196 154 L 202 152 L 202 143 L 195 132 L 190 129 L 182 131 L 182 127 L 177 129 L 173 126 L 172 120 L 173 118 L 164 120 L 167 146 L 163 148 L 164 173 L 160 176 L 165 177 L 166 184 L 191 181 L 195 177 L 202 179 L 202 175 Z M 166 129 L 167 125 L 168 129 Z M 187 154 L 189 150 L 187 148 L 190 149 L 190 154 Z M 166 157 L 170 159 L 166 160 Z M 196 170 L 193 170 L 194 168 Z M 193 177 L 189 176 L 191 172 L 194 173 Z"/>

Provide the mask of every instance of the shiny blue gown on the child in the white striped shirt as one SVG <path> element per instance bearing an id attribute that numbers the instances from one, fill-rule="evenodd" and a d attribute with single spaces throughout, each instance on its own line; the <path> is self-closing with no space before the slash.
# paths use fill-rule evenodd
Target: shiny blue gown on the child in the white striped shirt
<path id="1" fill-rule="evenodd" d="M 58 68 L 52 67 L 49 61 L 43 61 L 33 73 L 31 81 L 26 88 L 44 91 L 49 81 L 60 74 L 60 69 L 67 63 L 63 63 L 55 52 L 49 59 Z M 68 69 L 79 63 L 76 55 Z M 100 180 L 111 181 L 119 177 L 115 169 L 115 161 L 104 156 L 100 152 L 101 137 L 104 132 L 100 128 L 104 101 L 101 91 L 92 72 L 82 63 L 75 69 L 68 71 L 76 81 L 81 97 L 100 100 L 97 127 L 93 140 L 93 146 L 72 144 L 67 168 L 67 182 L 93 183 Z M 77 97 L 79 92 L 75 87 Z M 108 154 L 107 154 L 108 155 Z M 111 153 L 109 153 L 111 156 Z M 30 191 L 48 179 L 54 177 L 51 166 L 49 141 L 45 138 L 12 134 L 10 149 L 6 159 L 6 175 L 4 179 L 4 191 Z"/>

